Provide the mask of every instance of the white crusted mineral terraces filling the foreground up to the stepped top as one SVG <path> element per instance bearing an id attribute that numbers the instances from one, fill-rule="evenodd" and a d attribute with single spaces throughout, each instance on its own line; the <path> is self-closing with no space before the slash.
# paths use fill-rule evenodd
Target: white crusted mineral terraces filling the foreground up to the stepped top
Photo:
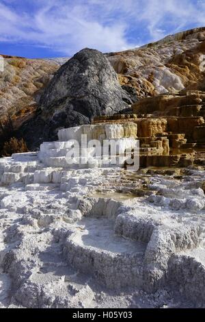
<path id="1" fill-rule="evenodd" d="M 136 140 L 83 125 L 0 159 L 0 307 L 204 307 L 205 171 L 70 165 L 81 134 Z"/>

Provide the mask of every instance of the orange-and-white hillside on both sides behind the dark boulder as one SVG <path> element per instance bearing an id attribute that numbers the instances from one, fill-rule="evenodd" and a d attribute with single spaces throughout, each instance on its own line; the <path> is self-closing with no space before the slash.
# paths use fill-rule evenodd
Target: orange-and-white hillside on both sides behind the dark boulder
<path id="1" fill-rule="evenodd" d="M 175 95 L 184 89 L 205 89 L 205 27 L 167 36 L 140 48 L 105 55 L 118 73 L 120 85 L 134 103 L 144 97 L 167 92 Z M 42 114 L 40 97 L 44 88 L 49 86 L 53 74 L 68 58 L 29 60 L 5 55 L 3 58 L 5 68 L 0 73 L 0 119 L 9 113 L 17 131 L 23 125 L 21 135 L 26 139 L 27 132 L 31 132 L 29 139 L 32 136 L 33 140 L 33 135 L 39 137 L 45 125 L 46 132 L 52 132 L 49 137 L 53 137 L 49 111 L 40 118 L 36 114 Z M 63 94 L 61 98 L 64 99 Z M 54 107 L 58 114 L 58 107 Z M 64 127 L 64 124 L 59 126 Z"/>

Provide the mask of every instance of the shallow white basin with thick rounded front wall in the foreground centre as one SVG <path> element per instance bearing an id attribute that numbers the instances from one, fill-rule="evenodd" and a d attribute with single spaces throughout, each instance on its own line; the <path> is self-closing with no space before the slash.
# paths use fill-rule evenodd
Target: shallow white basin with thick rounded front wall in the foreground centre
<path id="1" fill-rule="evenodd" d="M 79 271 L 96 275 L 108 288 L 141 286 L 146 246 L 115 236 L 108 219 L 87 218 L 70 232 L 64 258 Z"/>

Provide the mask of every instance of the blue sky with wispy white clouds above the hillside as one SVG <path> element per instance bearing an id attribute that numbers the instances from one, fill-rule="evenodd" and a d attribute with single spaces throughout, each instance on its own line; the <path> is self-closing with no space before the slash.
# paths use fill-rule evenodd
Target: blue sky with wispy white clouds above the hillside
<path id="1" fill-rule="evenodd" d="M 0 53 L 121 51 L 205 26 L 205 0 L 0 0 Z"/>

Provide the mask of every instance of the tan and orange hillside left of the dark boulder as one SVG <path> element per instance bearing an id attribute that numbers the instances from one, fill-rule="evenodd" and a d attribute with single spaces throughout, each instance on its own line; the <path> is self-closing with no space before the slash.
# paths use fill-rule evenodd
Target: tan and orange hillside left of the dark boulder
<path id="1" fill-rule="evenodd" d="M 9 112 L 14 119 L 22 119 L 36 110 L 42 88 L 59 69 L 55 60 L 29 60 L 3 57 L 0 72 L 0 119 Z M 22 120 L 23 121 L 23 120 Z"/>

